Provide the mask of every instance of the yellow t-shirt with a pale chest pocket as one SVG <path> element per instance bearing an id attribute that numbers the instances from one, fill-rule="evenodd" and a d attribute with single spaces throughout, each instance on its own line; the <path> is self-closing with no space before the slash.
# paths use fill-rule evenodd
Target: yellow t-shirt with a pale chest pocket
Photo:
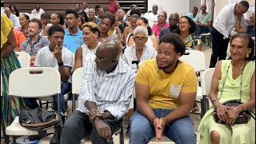
<path id="1" fill-rule="evenodd" d="M 198 78 L 188 63 L 179 61 L 174 72 L 166 74 L 158 68 L 155 58 L 142 63 L 136 82 L 150 86 L 149 105 L 153 109 L 176 109 L 181 92 L 194 93 L 198 89 Z"/>

